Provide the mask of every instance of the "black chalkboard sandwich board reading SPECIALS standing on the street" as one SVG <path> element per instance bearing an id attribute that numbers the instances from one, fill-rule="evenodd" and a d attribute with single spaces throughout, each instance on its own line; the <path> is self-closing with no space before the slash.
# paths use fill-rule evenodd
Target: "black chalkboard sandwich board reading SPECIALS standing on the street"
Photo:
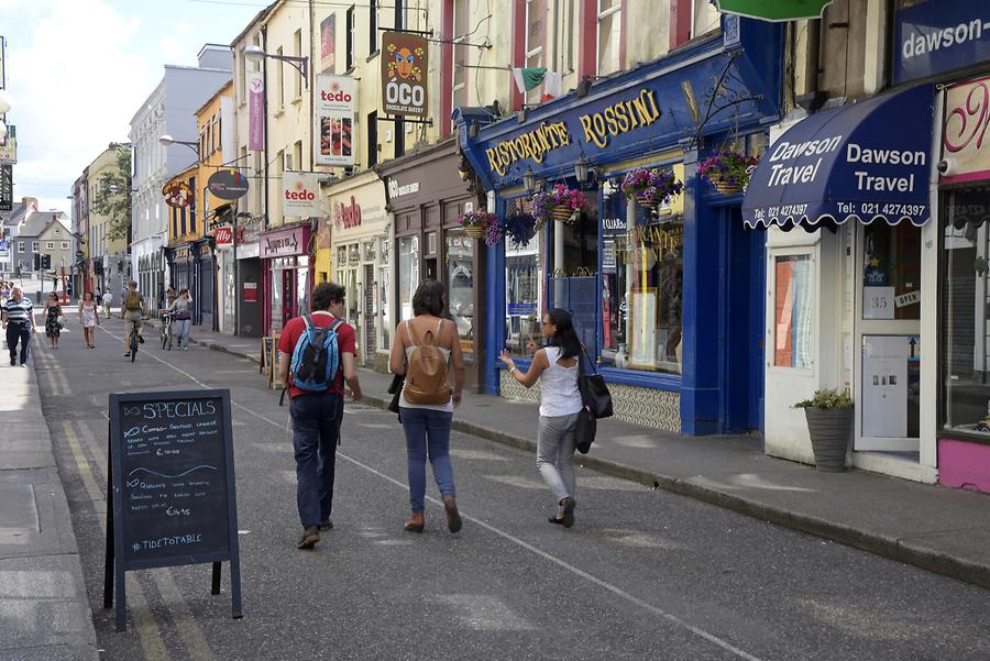
<path id="1" fill-rule="evenodd" d="M 124 572 L 230 562 L 241 617 L 230 390 L 110 395 L 110 470 L 103 605 L 127 626 Z"/>

